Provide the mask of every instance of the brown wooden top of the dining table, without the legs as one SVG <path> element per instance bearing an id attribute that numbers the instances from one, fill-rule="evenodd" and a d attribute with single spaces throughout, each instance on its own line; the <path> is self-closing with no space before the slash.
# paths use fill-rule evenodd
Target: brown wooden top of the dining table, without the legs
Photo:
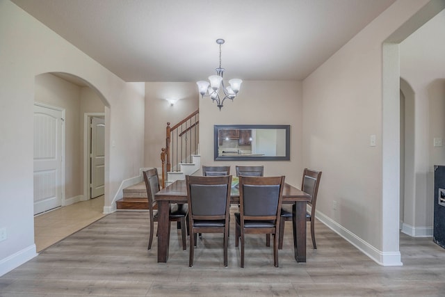
<path id="1" fill-rule="evenodd" d="M 232 203 L 239 202 L 239 190 L 237 187 L 232 187 L 230 190 L 230 201 Z M 295 186 L 284 184 L 283 188 L 283 202 L 307 202 L 311 195 L 301 191 Z M 187 202 L 187 188 L 185 180 L 177 180 L 169 186 L 163 188 L 154 195 L 156 201 L 170 201 L 170 202 Z"/>

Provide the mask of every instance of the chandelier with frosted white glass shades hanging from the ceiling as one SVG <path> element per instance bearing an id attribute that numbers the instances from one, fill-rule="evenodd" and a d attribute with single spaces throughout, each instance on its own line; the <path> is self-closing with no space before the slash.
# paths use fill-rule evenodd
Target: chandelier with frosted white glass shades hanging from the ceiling
<path id="1" fill-rule="evenodd" d="M 200 90 L 202 97 L 211 97 L 213 102 L 216 102 L 217 106 L 223 107 L 224 100 L 229 98 L 233 101 L 236 94 L 238 94 L 241 83 L 241 79 L 230 79 L 230 86 L 225 87 L 223 81 L 223 74 L 225 69 L 221 67 L 221 45 L 225 40 L 217 39 L 216 43 L 220 45 L 220 67 L 216 68 L 216 75 L 211 75 L 209 81 L 197 81 L 197 87 Z M 222 88 L 221 88 L 222 87 Z M 221 91 L 222 89 L 222 91 Z"/>

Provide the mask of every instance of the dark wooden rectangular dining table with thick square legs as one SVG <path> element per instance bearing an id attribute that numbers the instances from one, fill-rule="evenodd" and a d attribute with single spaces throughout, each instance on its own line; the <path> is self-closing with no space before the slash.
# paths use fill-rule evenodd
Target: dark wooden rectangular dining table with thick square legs
<path id="1" fill-rule="evenodd" d="M 297 262 L 306 262 L 306 204 L 311 196 L 300 189 L 285 184 L 283 203 L 293 204 L 293 250 Z M 170 221 L 168 220 L 171 203 L 187 203 L 185 180 L 177 180 L 154 195 L 158 203 L 158 263 L 166 263 L 170 245 Z M 239 203 L 239 190 L 231 188 L 230 202 Z"/>

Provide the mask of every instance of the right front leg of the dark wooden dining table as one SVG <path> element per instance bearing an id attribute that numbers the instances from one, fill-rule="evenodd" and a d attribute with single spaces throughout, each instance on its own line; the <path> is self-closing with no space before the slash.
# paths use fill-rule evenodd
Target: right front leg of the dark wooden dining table
<path id="1" fill-rule="evenodd" d="M 293 252 L 297 262 L 306 262 L 306 202 L 296 202 L 293 213 Z"/>

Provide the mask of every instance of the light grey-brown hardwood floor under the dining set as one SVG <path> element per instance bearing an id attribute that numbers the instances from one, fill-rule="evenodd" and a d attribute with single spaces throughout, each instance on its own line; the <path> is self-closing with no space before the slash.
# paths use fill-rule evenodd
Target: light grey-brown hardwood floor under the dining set
<path id="1" fill-rule="evenodd" d="M 225 268 L 220 234 L 198 240 L 189 268 L 176 224 L 168 263 L 156 262 L 147 217 L 119 211 L 88 225 L 3 275 L 0 296 L 445 296 L 445 250 L 430 238 L 401 234 L 403 266 L 382 267 L 316 221 L 318 249 L 308 234 L 307 263 L 297 264 L 287 222 L 279 268 L 264 235 L 246 237 L 245 268 L 230 236 Z"/>

